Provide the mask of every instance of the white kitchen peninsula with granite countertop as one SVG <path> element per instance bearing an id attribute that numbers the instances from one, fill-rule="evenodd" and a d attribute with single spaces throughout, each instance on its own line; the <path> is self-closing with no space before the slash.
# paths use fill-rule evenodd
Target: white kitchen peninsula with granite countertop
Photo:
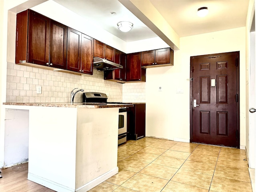
<path id="1" fill-rule="evenodd" d="M 118 173 L 118 110 L 132 104 L 4 103 L 28 110 L 28 180 L 86 192 Z"/>

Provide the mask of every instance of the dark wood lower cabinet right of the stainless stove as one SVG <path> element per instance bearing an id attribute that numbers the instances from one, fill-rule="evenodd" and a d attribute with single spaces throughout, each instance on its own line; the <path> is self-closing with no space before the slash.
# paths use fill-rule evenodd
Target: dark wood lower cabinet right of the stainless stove
<path id="1" fill-rule="evenodd" d="M 127 140 L 145 137 L 146 104 L 134 104 L 127 112 Z"/>

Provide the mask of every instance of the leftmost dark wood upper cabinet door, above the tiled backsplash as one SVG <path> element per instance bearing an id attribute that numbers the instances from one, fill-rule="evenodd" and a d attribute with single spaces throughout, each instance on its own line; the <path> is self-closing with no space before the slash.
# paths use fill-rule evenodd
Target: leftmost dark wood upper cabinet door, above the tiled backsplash
<path id="1" fill-rule="evenodd" d="M 49 65 L 50 18 L 29 10 L 28 62 Z"/>

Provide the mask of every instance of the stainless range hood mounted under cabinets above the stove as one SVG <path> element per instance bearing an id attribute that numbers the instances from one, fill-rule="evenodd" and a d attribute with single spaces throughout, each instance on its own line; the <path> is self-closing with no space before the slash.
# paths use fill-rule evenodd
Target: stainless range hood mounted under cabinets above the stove
<path id="1" fill-rule="evenodd" d="M 98 71 L 106 71 L 106 70 L 113 70 L 118 68 L 123 68 L 122 65 L 116 64 L 106 59 L 102 59 L 100 57 L 93 58 L 93 68 L 97 69 Z"/>

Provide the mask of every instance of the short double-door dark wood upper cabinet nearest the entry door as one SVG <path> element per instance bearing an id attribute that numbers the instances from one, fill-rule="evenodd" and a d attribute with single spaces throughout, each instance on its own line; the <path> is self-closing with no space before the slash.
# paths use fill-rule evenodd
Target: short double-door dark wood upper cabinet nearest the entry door
<path id="1" fill-rule="evenodd" d="M 171 48 L 163 48 L 142 52 L 141 65 L 158 66 L 173 65 L 173 50 Z"/>

